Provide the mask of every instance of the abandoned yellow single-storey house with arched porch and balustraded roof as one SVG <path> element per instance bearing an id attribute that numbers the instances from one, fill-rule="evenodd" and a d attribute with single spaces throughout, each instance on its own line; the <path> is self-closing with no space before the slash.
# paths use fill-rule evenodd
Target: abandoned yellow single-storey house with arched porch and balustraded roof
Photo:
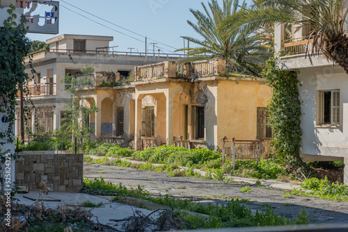
<path id="1" fill-rule="evenodd" d="M 101 141 L 137 150 L 161 144 L 221 150 L 226 137 L 272 136 L 271 88 L 262 78 L 228 73 L 226 60 L 164 61 L 135 67 L 134 74 L 130 85 L 101 87 L 107 78 L 95 73 L 93 86 L 81 90 L 84 106 L 100 108 L 88 121 Z M 102 133 L 105 124 L 112 133 Z"/>

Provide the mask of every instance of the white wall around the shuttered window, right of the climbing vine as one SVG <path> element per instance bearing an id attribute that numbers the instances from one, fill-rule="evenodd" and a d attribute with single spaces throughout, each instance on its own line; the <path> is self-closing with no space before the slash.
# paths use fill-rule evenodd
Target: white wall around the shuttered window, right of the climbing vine
<path id="1" fill-rule="evenodd" d="M 348 103 L 348 75 L 342 71 L 333 66 L 301 69 L 298 76 L 299 94 L 303 101 L 301 154 L 348 156 L 348 122 L 345 120 L 347 115 L 343 114 L 344 103 Z M 340 90 L 340 126 L 317 125 L 319 90 Z"/>

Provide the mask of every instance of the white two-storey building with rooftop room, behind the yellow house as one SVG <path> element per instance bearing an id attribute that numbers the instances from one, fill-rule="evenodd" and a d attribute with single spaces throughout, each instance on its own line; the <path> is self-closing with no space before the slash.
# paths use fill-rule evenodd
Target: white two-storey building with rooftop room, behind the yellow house
<path id="1" fill-rule="evenodd" d="M 24 125 L 26 136 L 29 131 L 35 131 L 36 122 L 40 125 L 42 133 L 54 131 L 61 126 L 68 99 L 65 84 L 61 81 L 65 74 L 78 75 L 86 65 L 92 65 L 95 72 L 113 72 L 121 77 L 127 77 L 134 72 L 134 67 L 137 65 L 180 58 L 166 54 L 158 56 L 153 53 L 113 51 L 114 48 L 109 47 L 109 42 L 112 40 L 113 37 L 110 36 L 58 35 L 46 41 L 49 49 L 29 54 L 25 60 L 26 72 L 29 76 L 33 76 L 33 79 L 26 83 L 25 88 L 29 90 L 29 95 L 25 97 L 30 96 L 35 108 L 28 104 L 31 110 Z M 35 73 L 31 72 L 29 60 Z M 17 135 L 20 135 L 22 130 L 20 114 L 18 106 L 15 129 Z M 107 126 L 103 126 L 105 133 L 108 131 Z"/>

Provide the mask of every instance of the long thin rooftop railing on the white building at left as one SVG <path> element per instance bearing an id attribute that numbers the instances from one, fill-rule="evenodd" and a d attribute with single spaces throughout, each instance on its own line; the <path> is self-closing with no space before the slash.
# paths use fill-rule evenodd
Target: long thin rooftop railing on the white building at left
<path id="1" fill-rule="evenodd" d="M 99 48 L 98 48 L 99 49 Z M 145 52 L 129 52 L 129 51 L 110 51 L 109 49 L 102 50 L 75 50 L 75 49 L 42 49 L 40 51 L 34 51 L 29 53 L 28 56 L 33 56 L 42 52 L 52 53 L 88 53 L 88 54 L 102 54 L 102 55 L 125 55 L 125 56 L 158 56 L 158 57 L 173 57 L 173 58 L 184 58 L 186 55 L 178 53 L 145 53 Z"/>

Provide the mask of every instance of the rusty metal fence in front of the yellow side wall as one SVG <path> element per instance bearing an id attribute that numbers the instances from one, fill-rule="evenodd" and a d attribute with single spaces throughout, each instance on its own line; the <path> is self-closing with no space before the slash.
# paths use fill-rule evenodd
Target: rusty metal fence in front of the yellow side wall
<path id="1" fill-rule="evenodd" d="M 232 140 L 223 139 L 222 162 L 226 158 L 232 161 L 232 167 L 235 169 L 235 160 L 248 159 L 260 160 L 264 154 L 265 147 L 261 140 Z M 268 142 L 267 142 L 268 143 Z"/>

